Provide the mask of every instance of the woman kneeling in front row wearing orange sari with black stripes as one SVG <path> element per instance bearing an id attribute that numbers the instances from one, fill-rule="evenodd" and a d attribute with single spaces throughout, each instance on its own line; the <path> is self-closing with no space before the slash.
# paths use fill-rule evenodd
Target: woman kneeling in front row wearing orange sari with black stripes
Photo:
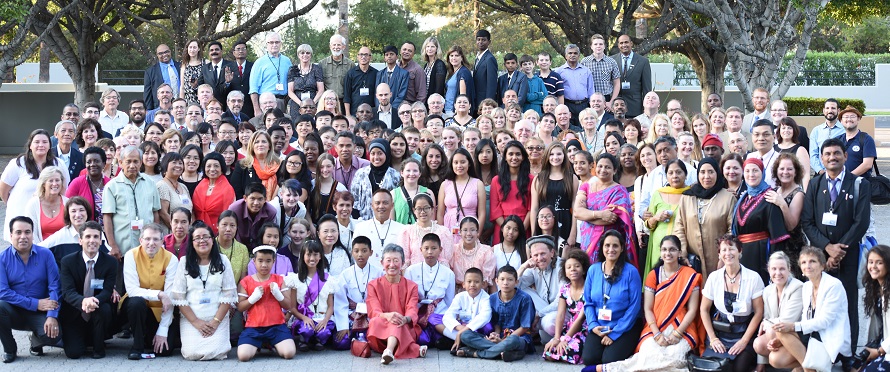
<path id="1" fill-rule="evenodd" d="M 643 328 L 636 354 L 597 370 L 686 371 L 686 354 L 704 351 L 704 329 L 698 316 L 701 275 L 682 264 L 680 239 L 661 239 L 661 258 L 643 287 Z"/>

